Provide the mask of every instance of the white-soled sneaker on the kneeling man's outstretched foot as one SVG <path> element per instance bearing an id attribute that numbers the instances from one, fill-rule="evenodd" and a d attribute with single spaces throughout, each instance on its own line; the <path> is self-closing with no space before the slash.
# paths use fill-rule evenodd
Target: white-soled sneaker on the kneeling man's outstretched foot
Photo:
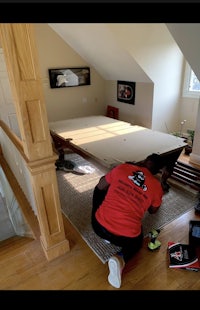
<path id="1" fill-rule="evenodd" d="M 124 265 L 123 258 L 118 258 L 116 255 L 112 256 L 108 261 L 110 272 L 108 275 L 108 282 L 116 288 L 120 288 L 121 286 L 121 275 Z"/>

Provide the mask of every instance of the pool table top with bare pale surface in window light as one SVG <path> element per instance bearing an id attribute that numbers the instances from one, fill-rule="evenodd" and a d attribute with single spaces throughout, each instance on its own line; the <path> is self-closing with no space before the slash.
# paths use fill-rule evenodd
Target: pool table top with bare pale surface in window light
<path id="1" fill-rule="evenodd" d="M 101 115 L 51 122 L 49 128 L 61 149 L 72 147 L 107 168 L 141 161 L 151 153 L 171 165 L 186 145 L 182 138 Z"/>

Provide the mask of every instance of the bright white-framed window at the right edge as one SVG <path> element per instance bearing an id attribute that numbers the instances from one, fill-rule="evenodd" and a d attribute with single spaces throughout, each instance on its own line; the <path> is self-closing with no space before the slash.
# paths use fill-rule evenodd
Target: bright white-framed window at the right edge
<path id="1" fill-rule="evenodd" d="M 185 78 L 183 84 L 183 97 L 199 98 L 200 82 L 192 71 L 190 65 L 186 63 Z"/>

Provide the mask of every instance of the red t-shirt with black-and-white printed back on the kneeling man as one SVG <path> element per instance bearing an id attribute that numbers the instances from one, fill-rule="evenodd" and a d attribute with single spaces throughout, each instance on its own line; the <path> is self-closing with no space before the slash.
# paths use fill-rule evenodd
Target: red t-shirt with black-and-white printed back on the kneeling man
<path id="1" fill-rule="evenodd" d="M 147 168 L 128 163 L 113 168 L 105 178 L 110 186 L 96 219 L 115 235 L 138 236 L 145 212 L 162 203 L 159 180 Z"/>

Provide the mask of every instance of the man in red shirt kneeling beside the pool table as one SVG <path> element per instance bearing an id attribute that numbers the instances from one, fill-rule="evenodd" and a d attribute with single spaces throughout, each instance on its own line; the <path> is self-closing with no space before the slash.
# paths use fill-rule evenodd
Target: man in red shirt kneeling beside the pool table
<path id="1" fill-rule="evenodd" d="M 92 226 L 97 235 L 121 247 L 108 261 L 108 282 L 119 288 L 125 263 L 143 243 L 142 219 L 158 211 L 164 194 L 154 176 L 163 167 L 157 154 L 140 163 L 123 163 L 101 177 L 93 193 Z"/>

